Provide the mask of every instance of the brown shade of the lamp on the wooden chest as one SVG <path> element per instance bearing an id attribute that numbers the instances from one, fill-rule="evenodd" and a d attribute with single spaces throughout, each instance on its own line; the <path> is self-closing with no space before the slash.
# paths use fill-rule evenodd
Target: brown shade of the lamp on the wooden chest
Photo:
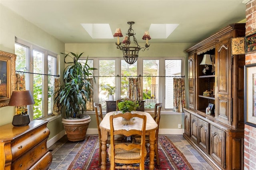
<path id="1" fill-rule="evenodd" d="M 26 106 L 35 104 L 29 90 L 13 91 L 8 106 Z"/>

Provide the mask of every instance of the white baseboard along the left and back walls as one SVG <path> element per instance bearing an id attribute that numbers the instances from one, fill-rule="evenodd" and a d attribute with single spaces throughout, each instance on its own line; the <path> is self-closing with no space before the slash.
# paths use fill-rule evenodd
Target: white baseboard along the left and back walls
<path id="1" fill-rule="evenodd" d="M 184 129 L 159 129 L 159 135 L 182 135 L 184 133 Z M 47 141 L 47 147 L 49 148 L 54 143 L 56 143 L 60 138 L 62 138 L 65 135 L 65 130 L 58 133 L 53 138 L 49 139 Z M 98 129 L 87 129 L 86 134 L 92 135 L 92 134 L 98 134 Z"/>

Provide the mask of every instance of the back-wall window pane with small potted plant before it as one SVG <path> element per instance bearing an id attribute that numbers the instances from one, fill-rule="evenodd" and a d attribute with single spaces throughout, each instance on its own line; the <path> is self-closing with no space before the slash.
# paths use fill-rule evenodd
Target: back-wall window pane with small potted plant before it
<path id="1" fill-rule="evenodd" d="M 109 95 L 109 89 L 106 88 L 106 85 L 115 87 L 115 60 L 100 60 L 99 76 L 112 76 L 99 77 L 99 103 L 101 104 L 102 108 L 106 108 L 105 101 L 108 100 Z"/>

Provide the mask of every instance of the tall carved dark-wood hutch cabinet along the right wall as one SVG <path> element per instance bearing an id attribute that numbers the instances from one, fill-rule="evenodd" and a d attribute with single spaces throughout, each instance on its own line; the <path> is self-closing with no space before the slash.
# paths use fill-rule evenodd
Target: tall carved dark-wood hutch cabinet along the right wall
<path id="1" fill-rule="evenodd" d="M 186 50 L 189 104 L 184 109 L 184 137 L 220 170 L 244 168 L 245 55 L 231 53 L 232 38 L 244 36 L 244 23 L 231 24 Z M 208 74 L 200 64 L 205 54 L 212 60 Z M 204 95 L 206 90 L 212 94 Z M 213 108 L 206 114 L 209 104 Z"/>

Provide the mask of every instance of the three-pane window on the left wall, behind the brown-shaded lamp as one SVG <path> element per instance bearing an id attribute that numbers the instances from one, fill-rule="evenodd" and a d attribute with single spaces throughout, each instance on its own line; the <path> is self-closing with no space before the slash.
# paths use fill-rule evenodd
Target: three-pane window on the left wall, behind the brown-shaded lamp
<path id="1" fill-rule="evenodd" d="M 57 55 L 19 39 L 15 42 L 15 54 L 16 70 L 36 73 L 24 73 L 26 90 L 30 90 L 35 100 L 33 107 L 28 107 L 30 118 L 48 117 L 54 104 L 54 76 L 50 75 L 56 75 Z"/>

